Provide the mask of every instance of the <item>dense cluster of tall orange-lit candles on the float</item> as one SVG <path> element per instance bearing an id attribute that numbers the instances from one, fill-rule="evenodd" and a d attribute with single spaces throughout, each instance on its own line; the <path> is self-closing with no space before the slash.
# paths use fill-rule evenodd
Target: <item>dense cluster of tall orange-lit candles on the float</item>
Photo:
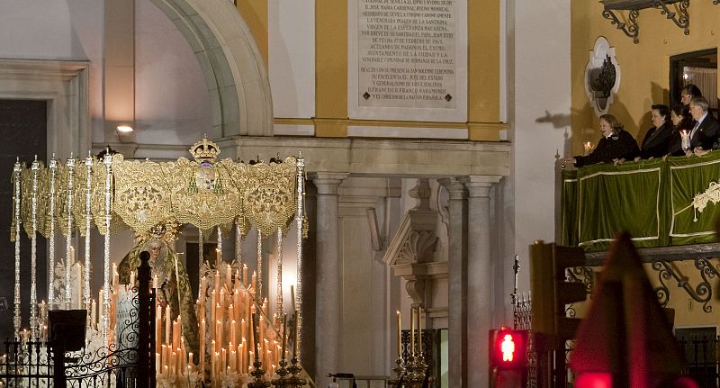
<path id="1" fill-rule="evenodd" d="M 243 266 L 240 278 L 239 270 L 219 265 L 220 260 L 211 276 L 211 284 L 206 276 L 202 277 L 203 297 L 195 304 L 200 337 L 197 365 L 193 364 L 193 354 L 187 352 L 184 344 L 182 317 L 173 320 L 174 311 L 169 306 L 156 305 L 156 368 L 164 378 L 173 380 L 197 372 L 202 379 L 209 377 L 213 384 L 220 383 L 223 375 L 247 374 L 256 359 L 272 376 L 280 360 L 288 356 L 285 342 L 290 338 L 284 338 L 284 333 L 283 338 L 277 338 L 272 328 L 283 325 L 284 317 L 275 314 L 271 325 L 267 319 L 267 300 L 256 309 L 257 275 L 253 273 L 248 284 L 247 266 Z M 257 317 L 256 322 L 253 317 Z M 296 322 L 293 320 L 293 338 L 297 334 Z M 296 348 L 293 350 L 297 352 Z M 209 365 L 206 365 L 208 359 Z"/>

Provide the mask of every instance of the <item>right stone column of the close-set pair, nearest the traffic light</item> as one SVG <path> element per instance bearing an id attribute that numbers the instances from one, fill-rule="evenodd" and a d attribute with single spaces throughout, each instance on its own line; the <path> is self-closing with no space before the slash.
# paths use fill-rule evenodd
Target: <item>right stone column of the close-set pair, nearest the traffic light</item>
<path id="1" fill-rule="evenodd" d="M 490 191 L 500 176 L 468 176 L 464 179 L 468 194 L 467 227 L 467 338 L 475 349 L 468 353 L 469 387 L 487 386 L 488 330 L 492 325 L 492 268 Z M 453 293 L 450 293 L 451 297 Z"/>

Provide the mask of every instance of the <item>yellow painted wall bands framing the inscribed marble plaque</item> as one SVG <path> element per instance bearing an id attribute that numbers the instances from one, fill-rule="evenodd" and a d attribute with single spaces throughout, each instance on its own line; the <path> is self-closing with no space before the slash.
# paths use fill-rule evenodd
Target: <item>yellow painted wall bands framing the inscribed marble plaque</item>
<path id="1" fill-rule="evenodd" d="M 490 3 L 490 4 L 486 4 Z M 316 136 L 347 137 L 348 125 L 467 128 L 470 140 L 500 140 L 500 0 L 468 2 L 468 121 L 455 123 L 363 121 L 347 116 L 347 2 L 317 0 L 315 3 L 315 112 L 307 120 Z M 238 1 L 258 46 L 267 59 L 267 5 Z M 258 38 L 261 37 L 261 38 Z M 298 118 L 276 118 L 276 123 Z"/>

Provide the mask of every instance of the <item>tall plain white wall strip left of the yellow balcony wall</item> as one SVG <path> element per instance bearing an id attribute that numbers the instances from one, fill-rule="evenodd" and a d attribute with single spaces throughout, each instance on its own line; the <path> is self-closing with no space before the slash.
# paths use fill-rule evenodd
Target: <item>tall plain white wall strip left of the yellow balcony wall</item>
<path id="1" fill-rule="evenodd" d="M 571 131 L 569 0 L 508 2 L 509 140 L 511 173 L 499 206 L 506 245 L 505 292 L 512 292 L 512 260 L 520 257 L 520 292 L 529 289 L 528 247 L 554 240 L 554 160 Z M 512 241 L 509 243 L 509 241 Z M 508 303 L 496 301 L 497 303 Z M 507 313 L 506 313 L 507 314 Z M 506 318 L 508 319 L 508 318 Z M 511 319 L 511 317 L 509 317 Z"/>

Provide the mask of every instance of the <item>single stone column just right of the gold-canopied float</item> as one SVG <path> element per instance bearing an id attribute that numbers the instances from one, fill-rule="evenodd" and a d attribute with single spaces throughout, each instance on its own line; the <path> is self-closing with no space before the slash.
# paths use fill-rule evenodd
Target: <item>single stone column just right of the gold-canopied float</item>
<path id="1" fill-rule="evenodd" d="M 327 387 L 325 377 L 337 373 L 340 365 L 341 273 L 338 241 L 338 186 L 348 174 L 314 173 L 312 182 L 317 196 L 317 255 L 315 310 L 315 383 Z M 304 349 L 309 352 L 312 349 Z"/>

